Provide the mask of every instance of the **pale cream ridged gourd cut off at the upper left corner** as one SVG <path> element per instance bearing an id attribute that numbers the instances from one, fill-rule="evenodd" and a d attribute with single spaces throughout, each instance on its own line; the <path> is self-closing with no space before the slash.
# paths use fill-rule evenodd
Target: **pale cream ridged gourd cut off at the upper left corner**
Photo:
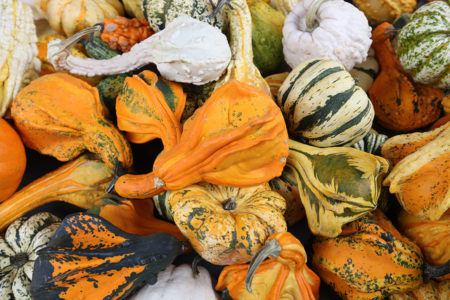
<path id="1" fill-rule="evenodd" d="M 37 34 L 30 6 L 1 0 L 0 13 L 0 117 L 15 95 L 39 76 Z"/>

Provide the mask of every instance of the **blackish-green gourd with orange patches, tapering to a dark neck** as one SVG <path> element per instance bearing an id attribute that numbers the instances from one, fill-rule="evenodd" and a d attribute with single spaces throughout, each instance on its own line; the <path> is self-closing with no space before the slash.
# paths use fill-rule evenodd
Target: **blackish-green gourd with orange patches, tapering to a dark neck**
<path id="1" fill-rule="evenodd" d="M 37 252 L 30 293 L 34 300 L 124 299 L 155 284 L 185 247 L 169 233 L 133 235 L 95 214 L 70 214 Z"/>

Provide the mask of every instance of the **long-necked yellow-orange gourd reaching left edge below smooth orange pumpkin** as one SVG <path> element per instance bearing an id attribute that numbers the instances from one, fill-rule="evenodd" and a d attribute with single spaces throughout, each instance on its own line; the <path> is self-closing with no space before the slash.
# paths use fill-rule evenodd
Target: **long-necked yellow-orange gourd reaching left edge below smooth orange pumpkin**
<path id="1" fill-rule="evenodd" d="M 0 233 L 15 219 L 52 201 L 65 201 L 88 209 L 106 194 L 113 173 L 113 169 L 92 153 L 63 164 L 1 202 Z"/>

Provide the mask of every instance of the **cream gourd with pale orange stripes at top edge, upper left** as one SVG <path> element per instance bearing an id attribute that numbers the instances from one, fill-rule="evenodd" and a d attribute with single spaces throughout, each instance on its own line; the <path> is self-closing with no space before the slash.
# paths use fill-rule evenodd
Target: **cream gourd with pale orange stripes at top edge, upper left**
<path id="1" fill-rule="evenodd" d="M 88 27 L 124 15 L 120 0 L 34 0 L 56 32 L 68 37 Z"/>

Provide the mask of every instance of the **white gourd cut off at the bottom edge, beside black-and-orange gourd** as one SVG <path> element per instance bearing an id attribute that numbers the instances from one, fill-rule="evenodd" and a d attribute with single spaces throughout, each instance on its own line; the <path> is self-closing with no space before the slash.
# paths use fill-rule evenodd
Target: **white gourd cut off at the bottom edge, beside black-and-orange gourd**
<path id="1" fill-rule="evenodd" d="M 214 300 L 219 295 L 214 291 L 210 272 L 198 266 L 200 277 L 196 278 L 191 265 L 173 264 L 158 273 L 154 285 L 144 285 L 129 300 Z"/>

